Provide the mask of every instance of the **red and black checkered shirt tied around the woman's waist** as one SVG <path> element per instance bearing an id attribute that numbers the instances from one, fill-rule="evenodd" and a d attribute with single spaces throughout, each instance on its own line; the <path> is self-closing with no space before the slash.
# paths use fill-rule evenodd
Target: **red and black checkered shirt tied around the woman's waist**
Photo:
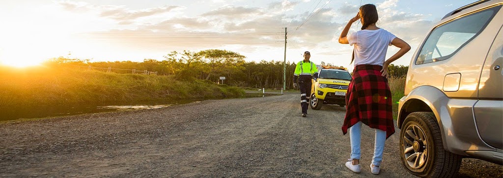
<path id="1" fill-rule="evenodd" d="M 357 65 L 346 95 L 346 117 L 343 133 L 359 121 L 370 128 L 386 131 L 386 138 L 395 133 L 391 91 L 388 79 L 381 76 L 380 65 Z"/>

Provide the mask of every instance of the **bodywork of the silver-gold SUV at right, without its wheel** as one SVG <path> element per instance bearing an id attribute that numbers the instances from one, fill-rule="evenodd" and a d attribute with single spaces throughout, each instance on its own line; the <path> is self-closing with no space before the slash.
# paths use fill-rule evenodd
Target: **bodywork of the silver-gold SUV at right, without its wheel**
<path id="1" fill-rule="evenodd" d="M 447 151 L 503 164 L 503 69 L 494 69 L 496 65 L 503 67 L 502 5 L 502 0 L 480 3 L 441 20 L 430 30 L 410 61 L 405 96 L 398 104 L 398 127 L 412 112 L 433 112 Z M 445 29 L 453 29 L 453 33 L 465 33 L 464 30 L 472 27 L 459 22 L 464 22 L 464 17 L 472 17 L 472 22 L 478 23 L 473 17 L 486 12 L 493 12 L 492 19 L 483 21 L 487 23 L 480 26 L 481 31 L 452 54 L 440 55 L 439 60 L 425 57 L 432 54 L 422 51 L 426 43 L 430 45 L 425 48 L 426 52 L 435 44 L 441 53 L 438 48 L 442 37 L 438 35 L 449 31 L 434 32 L 437 28 L 446 25 Z M 451 26 L 447 26 L 449 24 Z M 430 61 L 417 62 L 418 58 Z"/>

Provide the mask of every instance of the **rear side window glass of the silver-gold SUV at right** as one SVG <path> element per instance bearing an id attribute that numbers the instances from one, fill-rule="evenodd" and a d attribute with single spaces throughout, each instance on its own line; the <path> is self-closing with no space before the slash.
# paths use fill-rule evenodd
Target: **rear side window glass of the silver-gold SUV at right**
<path id="1" fill-rule="evenodd" d="M 415 64 L 450 58 L 484 30 L 500 8 L 501 6 L 489 8 L 436 27 L 421 48 Z"/>

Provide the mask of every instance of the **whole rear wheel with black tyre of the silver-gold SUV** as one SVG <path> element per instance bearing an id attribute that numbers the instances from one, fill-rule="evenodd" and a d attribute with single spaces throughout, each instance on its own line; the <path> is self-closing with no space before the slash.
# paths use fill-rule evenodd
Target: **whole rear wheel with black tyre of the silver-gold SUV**
<path id="1" fill-rule="evenodd" d="M 444 149 L 435 115 L 413 112 L 400 129 L 400 158 L 403 166 L 420 177 L 453 177 L 461 156 Z"/>

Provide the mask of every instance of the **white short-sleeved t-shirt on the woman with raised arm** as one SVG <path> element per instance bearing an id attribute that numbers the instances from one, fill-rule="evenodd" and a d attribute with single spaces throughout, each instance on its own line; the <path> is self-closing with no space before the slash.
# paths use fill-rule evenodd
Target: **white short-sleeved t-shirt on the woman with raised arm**
<path id="1" fill-rule="evenodd" d="M 348 35 L 349 44 L 355 44 L 355 66 L 359 64 L 382 66 L 388 46 L 395 38 L 395 35 L 384 29 L 361 30 Z"/>

